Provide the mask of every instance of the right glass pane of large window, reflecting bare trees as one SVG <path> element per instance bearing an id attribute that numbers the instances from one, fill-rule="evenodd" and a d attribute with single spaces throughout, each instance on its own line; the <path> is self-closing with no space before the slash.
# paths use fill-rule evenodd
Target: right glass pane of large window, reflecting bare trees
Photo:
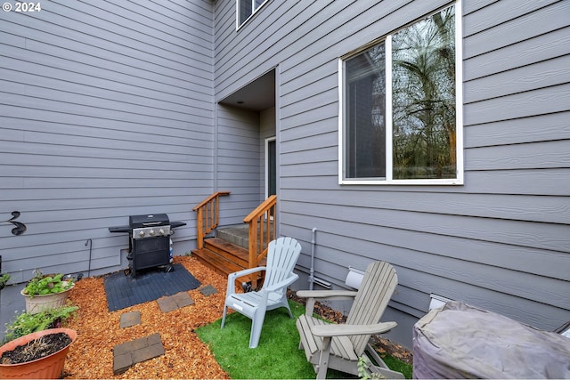
<path id="1" fill-rule="evenodd" d="M 394 178 L 453 178 L 454 7 L 392 39 Z"/>

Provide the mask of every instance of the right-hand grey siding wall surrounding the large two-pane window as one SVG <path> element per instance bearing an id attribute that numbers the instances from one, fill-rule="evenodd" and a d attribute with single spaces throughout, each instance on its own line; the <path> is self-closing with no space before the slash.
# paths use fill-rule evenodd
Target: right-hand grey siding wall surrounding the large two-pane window
<path id="1" fill-rule="evenodd" d="M 435 293 L 547 330 L 570 319 L 570 3 L 462 2 L 462 186 L 338 184 L 338 57 L 447 1 L 215 4 L 216 100 L 278 67 L 281 234 L 308 272 L 395 265 L 401 342 Z M 305 279 L 304 279 L 305 280 Z M 298 281 L 296 287 L 308 285 Z"/>

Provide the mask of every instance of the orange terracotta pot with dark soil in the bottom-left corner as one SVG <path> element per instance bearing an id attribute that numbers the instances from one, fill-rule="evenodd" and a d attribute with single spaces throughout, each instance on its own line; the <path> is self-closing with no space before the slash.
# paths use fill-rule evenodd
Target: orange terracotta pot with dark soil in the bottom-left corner
<path id="1" fill-rule="evenodd" d="M 71 344 L 77 339 L 77 332 L 69 328 L 49 328 L 36 333 L 20 336 L 0 347 L 0 355 L 4 352 L 12 351 L 15 347 L 49 334 L 65 333 L 71 338 Z M 3 379 L 58 379 L 61 378 L 65 359 L 69 352 L 67 347 L 44 358 L 28 361 L 20 364 L 0 364 L 0 378 Z"/>

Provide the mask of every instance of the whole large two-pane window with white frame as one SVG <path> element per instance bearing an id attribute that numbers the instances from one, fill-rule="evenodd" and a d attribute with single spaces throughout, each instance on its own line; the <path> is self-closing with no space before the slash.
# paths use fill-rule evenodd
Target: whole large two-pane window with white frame
<path id="1" fill-rule="evenodd" d="M 339 60 L 340 183 L 461 184 L 460 4 Z"/>

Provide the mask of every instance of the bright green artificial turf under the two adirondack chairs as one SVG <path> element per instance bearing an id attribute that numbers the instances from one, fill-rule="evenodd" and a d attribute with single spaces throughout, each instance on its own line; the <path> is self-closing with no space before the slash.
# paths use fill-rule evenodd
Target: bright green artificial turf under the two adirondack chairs
<path id="1" fill-rule="evenodd" d="M 202 342 L 208 344 L 220 366 L 234 379 L 315 378 L 313 366 L 306 361 L 305 352 L 298 349 L 295 320 L 305 313 L 305 307 L 293 301 L 289 301 L 289 305 L 294 319 L 289 319 L 284 308 L 267 311 L 259 345 L 255 349 L 249 348 L 251 319 L 238 312 L 226 317 L 224 328 L 220 328 L 222 320 L 218 319 L 208 326 L 197 328 L 195 332 Z M 408 366 L 399 360 L 395 361 Z M 411 366 L 408 367 L 411 378 Z M 329 370 L 327 374 L 327 378 L 351 377 L 357 378 L 334 370 Z"/>

